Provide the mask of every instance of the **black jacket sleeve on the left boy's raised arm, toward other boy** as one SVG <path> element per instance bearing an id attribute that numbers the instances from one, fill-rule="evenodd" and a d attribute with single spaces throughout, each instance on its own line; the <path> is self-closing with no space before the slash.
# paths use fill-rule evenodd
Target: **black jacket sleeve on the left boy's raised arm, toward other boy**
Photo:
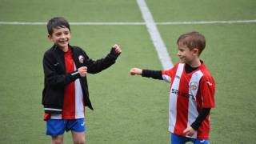
<path id="1" fill-rule="evenodd" d="M 94 61 L 90 59 L 84 51 L 83 53 L 86 55 L 87 72 L 90 74 L 96 74 L 101 72 L 102 70 L 107 69 L 108 67 L 114 64 L 115 60 L 118 58 L 119 55 L 115 53 L 114 48 L 112 48 L 110 50 L 110 53 L 107 54 L 105 58 L 101 58 Z"/>

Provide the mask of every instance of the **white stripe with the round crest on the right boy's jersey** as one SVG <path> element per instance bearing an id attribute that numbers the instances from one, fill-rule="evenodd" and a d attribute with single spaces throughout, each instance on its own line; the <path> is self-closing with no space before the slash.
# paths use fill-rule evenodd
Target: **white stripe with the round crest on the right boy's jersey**
<path id="1" fill-rule="evenodd" d="M 197 110 L 197 102 L 196 102 L 196 95 L 198 94 L 198 87 L 200 79 L 202 78 L 202 71 L 198 70 L 192 77 L 190 78 L 189 84 L 189 94 L 193 96 L 193 98 L 189 98 L 189 111 L 188 111 L 188 122 L 187 126 L 190 126 L 195 119 L 198 117 L 198 110 Z M 191 138 L 197 138 L 197 134 L 193 134 Z"/>

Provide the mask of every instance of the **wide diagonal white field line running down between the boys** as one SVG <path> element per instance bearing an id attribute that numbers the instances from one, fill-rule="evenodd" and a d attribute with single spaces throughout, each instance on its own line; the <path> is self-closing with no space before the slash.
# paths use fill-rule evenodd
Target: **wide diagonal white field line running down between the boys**
<path id="1" fill-rule="evenodd" d="M 162 63 L 162 68 L 164 70 L 168 70 L 173 67 L 173 63 L 171 62 L 171 58 L 166 49 L 165 43 L 162 41 L 161 35 L 158 31 L 158 27 L 154 22 L 154 18 L 152 17 L 149 8 L 146 6 L 146 2 L 144 0 L 137 0 L 139 9 L 142 12 L 142 17 L 146 22 L 146 28 L 150 33 L 151 40 L 154 44 L 154 47 L 158 53 L 158 58 Z"/>

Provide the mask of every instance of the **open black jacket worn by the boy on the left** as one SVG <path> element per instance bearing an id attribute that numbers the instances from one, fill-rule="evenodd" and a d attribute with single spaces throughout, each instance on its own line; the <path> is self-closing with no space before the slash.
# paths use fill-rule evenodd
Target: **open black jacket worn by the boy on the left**
<path id="1" fill-rule="evenodd" d="M 90 59 L 86 52 L 77 46 L 70 46 L 74 64 L 78 69 L 81 66 L 87 66 L 87 72 L 96 74 L 113 65 L 118 54 L 115 53 L 114 48 L 111 49 L 110 54 L 106 58 L 98 59 L 96 61 Z M 84 58 L 81 62 L 81 58 Z M 80 60 L 80 61 L 79 61 Z M 42 90 L 42 105 L 45 112 L 50 114 L 61 114 L 64 102 L 65 86 L 80 78 L 82 86 L 82 94 L 85 106 L 93 110 L 90 103 L 89 91 L 86 77 L 81 78 L 78 71 L 73 73 L 66 73 L 64 52 L 56 45 L 47 50 L 43 56 L 43 70 L 44 70 L 44 89 Z"/>

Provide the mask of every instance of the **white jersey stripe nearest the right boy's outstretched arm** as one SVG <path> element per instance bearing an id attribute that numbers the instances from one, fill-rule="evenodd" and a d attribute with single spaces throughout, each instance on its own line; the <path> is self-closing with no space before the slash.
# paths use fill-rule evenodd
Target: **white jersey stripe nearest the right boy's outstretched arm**
<path id="1" fill-rule="evenodd" d="M 181 80 L 184 63 L 178 64 L 178 69 L 174 78 L 173 85 L 170 88 L 170 102 L 169 102 L 169 128 L 171 133 L 174 133 L 174 127 L 177 118 L 177 98 L 178 95 L 171 92 L 172 89 L 178 90 L 179 82 Z"/>

